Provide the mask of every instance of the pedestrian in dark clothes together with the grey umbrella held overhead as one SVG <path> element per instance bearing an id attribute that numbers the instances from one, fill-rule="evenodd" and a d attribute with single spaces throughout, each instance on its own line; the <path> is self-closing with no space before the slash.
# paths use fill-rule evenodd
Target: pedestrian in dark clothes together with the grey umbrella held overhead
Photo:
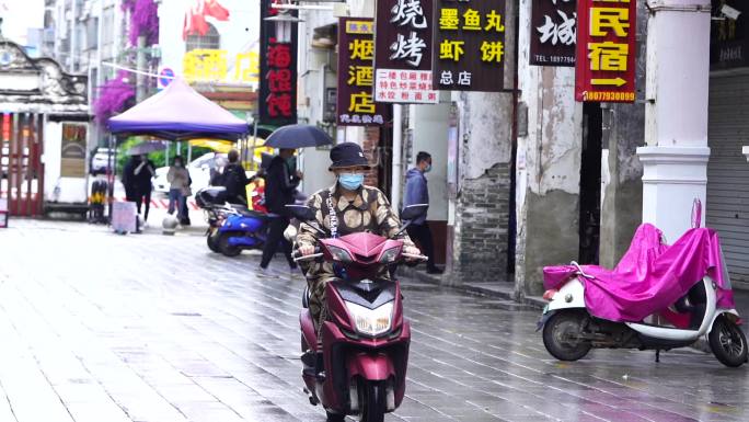
<path id="1" fill-rule="evenodd" d="M 331 144 L 333 139 L 326 133 L 310 125 L 284 126 L 266 139 L 266 147 L 279 149 L 278 155 L 270 160 L 265 171 L 265 206 L 277 217 L 273 219 L 268 228 L 260 264 L 261 272 L 267 270 L 279 247 L 286 255 L 289 267 L 291 270 L 297 267 L 291 256 L 291 242 L 284 238 L 284 231 L 290 223 L 286 205 L 293 204 L 297 187 L 303 179 L 302 172 L 297 170 L 295 155 L 298 148 Z"/>

